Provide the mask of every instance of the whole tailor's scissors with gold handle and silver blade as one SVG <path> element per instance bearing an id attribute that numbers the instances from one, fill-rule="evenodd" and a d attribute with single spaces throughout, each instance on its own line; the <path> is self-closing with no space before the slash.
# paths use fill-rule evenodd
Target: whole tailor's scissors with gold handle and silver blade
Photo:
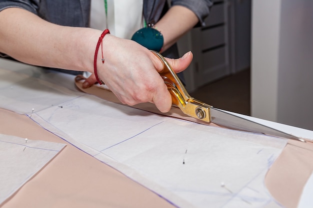
<path id="1" fill-rule="evenodd" d="M 241 118 L 239 116 L 227 113 L 226 111 L 213 108 L 210 105 L 190 97 L 165 58 L 158 52 L 152 52 L 163 62 L 163 70 L 159 72 L 159 74 L 163 78 L 171 95 L 172 104 L 180 108 L 184 114 L 229 129 L 266 134 L 270 136 L 305 142 L 305 140 L 295 137 L 291 134 L 287 134 L 277 129 L 247 120 L 245 118 Z"/>

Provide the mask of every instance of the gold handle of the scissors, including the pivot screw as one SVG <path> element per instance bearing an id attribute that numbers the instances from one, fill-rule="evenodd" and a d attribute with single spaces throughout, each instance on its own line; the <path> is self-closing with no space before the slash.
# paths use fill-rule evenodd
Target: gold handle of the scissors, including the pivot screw
<path id="1" fill-rule="evenodd" d="M 159 74 L 163 78 L 171 95 L 172 104 L 176 105 L 184 114 L 188 116 L 210 122 L 211 119 L 209 109 L 212 106 L 190 97 L 165 58 L 158 52 L 153 50 L 151 51 L 163 62 L 163 70 L 160 71 Z"/>

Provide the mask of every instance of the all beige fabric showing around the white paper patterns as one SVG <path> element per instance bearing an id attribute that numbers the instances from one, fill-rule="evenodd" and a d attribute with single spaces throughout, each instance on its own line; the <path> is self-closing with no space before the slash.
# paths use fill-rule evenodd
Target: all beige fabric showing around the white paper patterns
<path id="1" fill-rule="evenodd" d="M 79 87 L 79 83 L 76 84 Z M 90 94 L 99 93 L 99 97 L 119 103 L 111 92 L 98 87 L 84 91 Z M 159 113 L 152 104 L 135 107 Z M 42 208 L 47 205 L 51 208 L 173 207 L 116 170 L 42 129 L 28 117 L 3 109 L 0 109 L 0 115 L 2 134 L 67 144 L 64 150 L 13 195 L 3 208 Z M 166 115 L 192 120 L 176 108 Z M 283 206 L 296 208 L 303 186 L 313 170 L 310 160 L 312 156 L 313 144 L 290 140 L 268 171 L 265 184 L 272 196 Z"/>

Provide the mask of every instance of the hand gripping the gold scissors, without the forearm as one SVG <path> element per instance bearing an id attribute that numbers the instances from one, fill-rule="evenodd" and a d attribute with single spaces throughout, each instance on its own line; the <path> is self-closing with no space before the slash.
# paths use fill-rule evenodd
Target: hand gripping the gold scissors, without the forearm
<path id="1" fill-rule="evenodd" d="M 132 40 L 105 35 L 102 41 L 105 60 L 102 64 L 101 58 L 98 58 L 97 73 L 116 97 L 127 105 L 151 102 L 161 112 L 168 112 L 172 102 L 167 87 L 158 74 L 163 69 L 159 58 Z M 192 53 L 188 52 L 179 59 L 166 60 L 178 73 L 188 67 Z M 84 81 L 83 87 L 89 87 L 95 82 L 92 74 Z"/>

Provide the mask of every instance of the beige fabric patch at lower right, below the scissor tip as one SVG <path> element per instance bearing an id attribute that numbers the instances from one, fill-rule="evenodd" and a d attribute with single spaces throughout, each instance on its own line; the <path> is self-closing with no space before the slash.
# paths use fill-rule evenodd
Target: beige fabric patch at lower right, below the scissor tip
<path id="1" fill-rule="evenodd" d="M 286 208 L 296 208 L 313 171 L 313 143 L 289 140 L 269 169 L 265 185 L 271 195 Z"/>

